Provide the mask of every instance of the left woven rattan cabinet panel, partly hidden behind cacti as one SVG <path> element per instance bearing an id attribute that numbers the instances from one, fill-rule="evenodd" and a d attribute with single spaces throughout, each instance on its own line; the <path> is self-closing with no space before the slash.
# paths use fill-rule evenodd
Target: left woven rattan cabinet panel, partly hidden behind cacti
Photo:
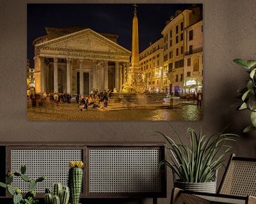
<path id="1" fill-rule="evenodd" d="M 81 149 L 11 149 L 11 171 L 20 172 L 21 164 L 26 164 L 26 174 L 31 179 L 46 176 L 38 183 L 36 192 L 44 193 L 53 183 L 68 184 L 68 162 L 82 160 Z M 28 183 L 21 178 L 14 179 L 13 186 L 28 192 Z"/>

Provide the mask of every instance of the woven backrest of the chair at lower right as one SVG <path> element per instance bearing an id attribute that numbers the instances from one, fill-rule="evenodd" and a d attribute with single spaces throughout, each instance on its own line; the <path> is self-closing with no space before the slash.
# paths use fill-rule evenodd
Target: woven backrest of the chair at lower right
<path id="1" fill-rule="evenodd" d="M 232 154 L 218 193 L 233 196 L 256 196 L 256 158 Z"/>

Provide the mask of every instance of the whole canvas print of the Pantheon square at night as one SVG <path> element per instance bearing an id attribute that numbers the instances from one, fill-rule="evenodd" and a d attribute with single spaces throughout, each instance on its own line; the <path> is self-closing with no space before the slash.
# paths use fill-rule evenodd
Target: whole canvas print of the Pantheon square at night
<path id="1" fill-rule="evenodd" d="M 202 120 L 202 4 L 27 4 L 28 120 Z"/>

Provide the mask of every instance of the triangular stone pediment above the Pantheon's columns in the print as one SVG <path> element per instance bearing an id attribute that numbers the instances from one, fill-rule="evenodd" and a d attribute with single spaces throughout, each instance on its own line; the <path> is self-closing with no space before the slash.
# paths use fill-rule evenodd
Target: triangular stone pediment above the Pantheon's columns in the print
<path id="1" fill-rule="evenodd" d="M 48 40 L 37 44 L 36 47 L 43 50 L 63 50 L 73 52 L 108 52 L 130 55 L 130 51 L 118 45 L 116 42 L 105 38 L 90 28 L 75 33 L 64 35 L 60 38 Z"/>

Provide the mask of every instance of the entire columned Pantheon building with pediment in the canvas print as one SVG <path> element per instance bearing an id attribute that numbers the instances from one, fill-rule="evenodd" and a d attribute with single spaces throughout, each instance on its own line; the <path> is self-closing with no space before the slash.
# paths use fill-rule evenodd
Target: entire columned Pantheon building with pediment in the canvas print
<path id="1" fill-rule="evenodd" d="M 33 42 L 36 93 L 120 91 L 127 81 L 131 52 L 117 44 L 117 35 L 90 28 L 46 28 L 46 33 Z"/>

